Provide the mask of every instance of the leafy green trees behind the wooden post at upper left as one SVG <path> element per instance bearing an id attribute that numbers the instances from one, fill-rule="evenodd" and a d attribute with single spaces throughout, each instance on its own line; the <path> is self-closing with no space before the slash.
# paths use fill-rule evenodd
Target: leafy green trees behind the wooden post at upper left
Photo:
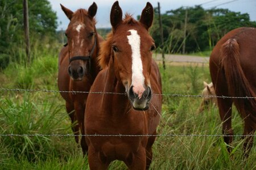
<path id="1" fill-rule="evenodd" d="M 57 16 L 47 0 L 28 1 L 30 22 L 31 49 L 36 39 L 48 37 L 56 39 Z M 33 39 L 36 37 L 36 39 Z M 4 69 L 9 62 L 20 62 L 24 53 L 23 1 L 0 1 L 0 68 Z M 7 59 L 7 56 L 9 58 Z M 31 55 L 33 57 L 33 54 Z"/>

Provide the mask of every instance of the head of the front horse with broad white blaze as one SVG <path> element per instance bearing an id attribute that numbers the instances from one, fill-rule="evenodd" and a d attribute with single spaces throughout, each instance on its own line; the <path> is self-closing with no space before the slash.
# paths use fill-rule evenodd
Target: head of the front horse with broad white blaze
<path id="1" fill-rule="evenodd" d="M 131 105 L 136 110 L 146 110 L 152 98 L 150 85 L 152 53 L 155 42 L 148 33 L 154 18 L 154 8 L 148 2 L 141 19 L 136 21 L 122 10 L 118 1 L 112 6 L 111 56 L 118 81 L 125 87 Z"/>

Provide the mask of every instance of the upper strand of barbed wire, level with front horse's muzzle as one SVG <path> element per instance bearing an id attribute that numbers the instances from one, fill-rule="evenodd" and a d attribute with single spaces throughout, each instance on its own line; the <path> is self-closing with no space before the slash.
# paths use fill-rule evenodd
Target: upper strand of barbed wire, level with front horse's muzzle
<path id="1" fill-rule="evenodd" d="M 72 93 L 72 94 L 112 94 L 112 95 L 127 95 L 124 93 L 117 93 L 117 92 L 93 92 L 93 91 L 59 91 L 59 90 L 40 90 L 40 89 L 19 89 L 19 88 L 0 88 L 0 91 L 28 91 L 28 92 L 58 92 L 58 93 Z M 248 97 L 248 96 L 214 96 L 214 95 L 182 95 L 182 94 L 153 94 L 155 96 L 172 96 L 172 97 L 216 97 L 216 98 L 223 98 L 223 99 L 256 99 L 256 97 Z"/>

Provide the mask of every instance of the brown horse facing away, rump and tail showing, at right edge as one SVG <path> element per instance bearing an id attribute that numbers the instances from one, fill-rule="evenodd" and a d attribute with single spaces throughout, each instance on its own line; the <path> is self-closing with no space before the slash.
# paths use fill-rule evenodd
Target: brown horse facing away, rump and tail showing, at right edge
<path id="1" fill-rule="evenodd" d="M 227 33 L 210 55 L 210 75 L 218 98 L 222 133 L 233 135 L 232 103 L 244 121 L 243 135 L 253 135 L 256 129 L 256 29 L 237 28 Z M 239 99 L 236 97 L 251 97 Z M 229 145 L 232 137 L 224 137 Z M 246 137 L 245 156 L 253 146 L 253 137 Z M 230 151 L 230 148 L 228 148 Z"/>

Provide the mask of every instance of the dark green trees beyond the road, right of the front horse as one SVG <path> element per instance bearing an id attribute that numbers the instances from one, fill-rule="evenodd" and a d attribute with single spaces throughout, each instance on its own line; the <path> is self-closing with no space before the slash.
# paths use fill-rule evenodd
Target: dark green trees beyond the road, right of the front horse
<path id="1" fill-rule="evenodd" d="M 185 12 L 187 31 L 184 37 Z M 205 10 L 201 6 L 180 7 L 162 15 L 164 44 L 160 41 L 159 15 L 155 8 L 155 19 L 150 30 L 156 45 L 166 53 L 181 53 L 185 42 L 185 53 L 212 50 L 213 46 L 228 31 L 238 27 L 256 27 L 249 14 L 228 9 Z"/>

